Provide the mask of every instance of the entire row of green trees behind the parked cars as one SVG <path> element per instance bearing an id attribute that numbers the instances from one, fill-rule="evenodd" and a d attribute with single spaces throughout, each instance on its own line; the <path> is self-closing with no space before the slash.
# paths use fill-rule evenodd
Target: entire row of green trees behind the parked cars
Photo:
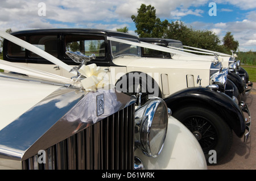
<path id="1" fill-rule="evenodd" d="M 187 27 L 181 21 L 163 22 L 156 17 L 156 10 L 151 5 L 142 4 L 137 9 L 138 15 L 132 15 L 131 19 L 135 23 L 137 30 L 135 32 L 139 37 L 158 37 L 165 39 L 180 40 L 183 45 L 190 47 L 203 48 L 222 53 L 231 53 L 230 50 L 236 50 L 238 41 L 234 41 L 230 32 L 224 37 L 224 45 L 221 45 L 220 37 L 209 30 L 195 30 Z"/>

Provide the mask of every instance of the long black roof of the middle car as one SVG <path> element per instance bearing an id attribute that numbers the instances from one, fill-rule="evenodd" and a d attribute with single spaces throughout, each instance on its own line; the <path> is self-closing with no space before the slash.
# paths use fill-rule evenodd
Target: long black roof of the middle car
<path id="1" fill-rule="evenodd" d="M 11 35 L 21 35 L 29 33 L 97 33 L 107 36 L 119 36 L 119 37 L 129 37 L 132 39 L 138 39 L 138 36 L 131 35 L 129 33 L 111 31 L 111 30 L 101 30 L 101 29 L 85 29 L 85 28 L 55 28 L 55 29 L 36 29 L 36 30 L 22 30 L 12 32 Z"/>

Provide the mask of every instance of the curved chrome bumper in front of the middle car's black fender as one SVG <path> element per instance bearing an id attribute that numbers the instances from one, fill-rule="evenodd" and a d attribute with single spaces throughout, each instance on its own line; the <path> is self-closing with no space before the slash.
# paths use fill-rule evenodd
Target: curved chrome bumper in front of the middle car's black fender
<path id="1" fill-rule="evenodd" d="M 247 104 L 245 102 L 240 102 L 240 107 L 245 115 L 245 135 L 243 136 L 243 141 L 246 142 L 250 136 L 250 128 L 251 128 L 251 113 Z"/>

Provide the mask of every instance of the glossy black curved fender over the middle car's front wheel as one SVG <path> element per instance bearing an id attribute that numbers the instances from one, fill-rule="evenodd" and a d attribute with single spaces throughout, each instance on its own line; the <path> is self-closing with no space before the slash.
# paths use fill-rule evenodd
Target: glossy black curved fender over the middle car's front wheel
<path id="1" fill-rule="evenodd" d="M 205 87 L 192 87 L 180 90 L 164 101 L 172 112 L 185 106 L 207 107 L 218 113 L 238 137 L 242 137 L 245 133 L 245 117 L 241 107 L 222 92 Z"/>

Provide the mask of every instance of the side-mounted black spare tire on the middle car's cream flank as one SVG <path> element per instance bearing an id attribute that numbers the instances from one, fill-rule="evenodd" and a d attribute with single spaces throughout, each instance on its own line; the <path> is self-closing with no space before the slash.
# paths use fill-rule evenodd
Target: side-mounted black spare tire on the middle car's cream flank
<path id="1" fill-rule="evenodd" d="M 145 74 L 146 75 L 146 74 Z M 130 85 L 131 89 L 129 89 L 129 85 L 126 85 L 127 82 L 129 82 L 129 76 L 128 75 L 125 75 L 123 76 L 121 79 L 119 79 L 117 81 L 117 83 L 115 84 L 117 87 L 116 89 L 119 90 L 118 88 L 120 87 L 120 85 L 126 85 L 127 89 L 125 91 L 123 91 L 122 87 L 119 91 L 122 91 L 123 93 L 131 96 L 131 95 L 135 95 L 137 97 L 137 102 L 136 104 L 138 105 L 138 93 L 141 92 L 142 95 L 141 95 L 141 105 L 144 105 L 147 101 L 148 101 L 148 98 L 150 95 L 152 94 L 155 94 L 155 92 L 150 92 L 148 91 L 148 87 L 154 87 L 157 86 L 155 89 L 158 89 L 158 94 L 155 95 L 159 98 L 162 98 L 162 94 L 161 94 L 161 91 L 159 89 L 159 86 L 157 85 L 157 83 L 155 82 L 154 79 L 152 79 L 152 81 L 148 81 L 148 76 L 146 75 L 146 79 L 145 80 L 142 80 L 142 78 L 139 78 L 139 81 L 135 81 L 133 79 L 133 85 Z M 148 82 L 150 82 L 150 85 L 148 85 Z M 138 86 L 139 86 L 139 89 L 138 89 Z"/>

